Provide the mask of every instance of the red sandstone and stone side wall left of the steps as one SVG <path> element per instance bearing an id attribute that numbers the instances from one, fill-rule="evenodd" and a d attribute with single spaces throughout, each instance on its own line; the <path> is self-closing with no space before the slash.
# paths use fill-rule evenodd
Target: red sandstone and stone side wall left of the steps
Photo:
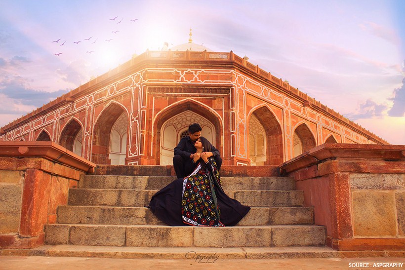
<path id="1" fill-rule="evenodd" d="M 0 143 L 0 248 L 43 244 L 45 224 L 95 164 L 51 142 Z"/>

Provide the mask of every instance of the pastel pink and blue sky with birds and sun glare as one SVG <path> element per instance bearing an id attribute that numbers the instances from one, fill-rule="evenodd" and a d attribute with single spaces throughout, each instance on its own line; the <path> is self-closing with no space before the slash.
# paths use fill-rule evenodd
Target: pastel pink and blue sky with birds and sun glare
<path id="1" fill-rule="evenodd" d="M 188 42 L 192 28 L 194 43 L 247 56 L 405 145 L 405 0 L 0 0 L 0 7 L 0 127 L 147 49 Z"/>

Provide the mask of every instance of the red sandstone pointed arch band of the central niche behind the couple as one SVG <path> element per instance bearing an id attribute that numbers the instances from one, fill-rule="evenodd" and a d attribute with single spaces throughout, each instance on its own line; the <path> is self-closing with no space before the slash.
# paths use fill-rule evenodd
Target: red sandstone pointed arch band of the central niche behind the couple
<path id="1" fill-rule="evenodd" d="M 202 104 L 201 102 L 188 98 L 166 107 L 155 116 L 153 122 L 153 134 L 156 134 L 156 136 L 154 136 L 154 145 L 153 145 L 154 149 L 152 150 L 153 151 L 152 153 L 155 154 L 156 156 L 157 160 L 156 164 L 160 164 L 162 125 L 173 116 L 176 116 L 186 111 L 191 111 L 192 113 L 202 116 L 203 118 L 207 119 L 212 123 L 215 129 L 215 134 L 212 134 L 212 136 L 214 136 L 215 138 L 216 145 L 214 146 L 217 149 L 220 149 L 219 146 L 222 145 L 221 133 L 223 130 L 223 122 L 221 116 L 219 116 L 218 113 L 216 113 L 214 110 L 212 110 L 205 104 Z"/>

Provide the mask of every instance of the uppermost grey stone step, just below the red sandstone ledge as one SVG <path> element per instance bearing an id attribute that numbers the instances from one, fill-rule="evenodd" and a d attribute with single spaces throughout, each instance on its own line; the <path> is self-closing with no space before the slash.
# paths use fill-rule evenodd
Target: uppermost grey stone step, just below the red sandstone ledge
<path id="1" fill-rule="evenodd" d="M 172 176 L 83 175 L 79 188 L 160 190 L 175 180 Z M 289 177 L 221 177 L 224 190 L 295 190 Z"/>

